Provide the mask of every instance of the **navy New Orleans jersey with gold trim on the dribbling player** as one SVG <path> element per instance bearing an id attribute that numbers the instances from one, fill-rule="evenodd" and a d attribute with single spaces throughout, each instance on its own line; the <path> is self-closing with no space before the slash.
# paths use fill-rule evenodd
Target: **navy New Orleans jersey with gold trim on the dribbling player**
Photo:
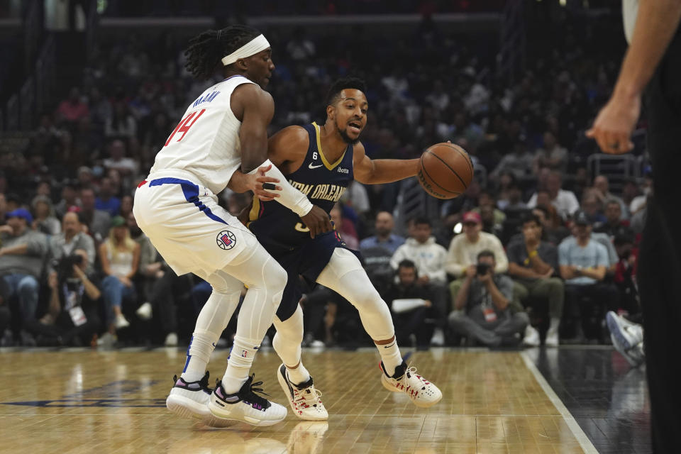
<path id="1" fill-rule="evenodd" d="M 303 128 L 309 134 L 307 155 L 287 179 L 309 201 L 329 213 L 353 180 L 353 145 L 348 145 L 336 162 L 328 162 L 321 150 L 319 126 L 312 123 Z M 255 198 L 248 221 L 250 231 L 272 254 L 292 250 L 311 239 L 301 218 L 276 200 L 263 202 Z"/>

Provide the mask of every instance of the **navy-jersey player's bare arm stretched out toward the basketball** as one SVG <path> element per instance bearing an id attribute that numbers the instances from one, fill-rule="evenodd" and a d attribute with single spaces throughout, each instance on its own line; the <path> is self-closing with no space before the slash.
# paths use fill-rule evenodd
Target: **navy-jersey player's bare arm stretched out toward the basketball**
<path id="1" fill-rule="evenodd" d="M 355 179 L 363 184 L 397 182 L 414 177 L 419 172 L 418 159 L 370 159 L 364 145 L 358 143 L 353 149 L 353 172 Z"/>

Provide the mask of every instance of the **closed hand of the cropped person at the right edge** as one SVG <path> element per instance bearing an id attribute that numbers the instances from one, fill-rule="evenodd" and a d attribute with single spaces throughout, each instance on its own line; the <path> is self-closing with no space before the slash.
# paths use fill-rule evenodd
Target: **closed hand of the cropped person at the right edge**
<path id="1" fill-rule="evenodd" d="M 598 113 L 587 137 L 595 139 L 604 153 L 621 155 L 633 150 L 631 133 L 641 115 L 641 95 L 613 94 Z"/>

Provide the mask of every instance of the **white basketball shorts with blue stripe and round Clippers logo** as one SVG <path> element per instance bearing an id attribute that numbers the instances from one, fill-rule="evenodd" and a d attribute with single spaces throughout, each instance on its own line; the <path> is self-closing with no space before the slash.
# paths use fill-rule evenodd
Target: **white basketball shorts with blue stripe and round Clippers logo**
<path id="1" fill-rule="evenodd" d="M 150 175 L 135 191 L 133 213 L 177 275 L 209 276 L 248 260 L 260 246 L 253 233 L 218 205 L 210 189 L 184 172 Z"/>

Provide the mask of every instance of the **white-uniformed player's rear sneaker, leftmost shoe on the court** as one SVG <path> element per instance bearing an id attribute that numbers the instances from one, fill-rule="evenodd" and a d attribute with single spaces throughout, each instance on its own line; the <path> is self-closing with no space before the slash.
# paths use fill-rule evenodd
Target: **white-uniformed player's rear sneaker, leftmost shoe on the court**
<path id="1" fill-rule="evenodd" d="M 170 389 L 170 394 L 165 399 L 167 409 L 182 418 L 200 419 L 207 426 L 226 427 L 231 421 L 216 418 L 208 409 L 213 390 L 208 387 L 210 374 L 206 371 L 198 382 L 186 382 L 184 378 L 172 377 L 175 385 Z"/>

